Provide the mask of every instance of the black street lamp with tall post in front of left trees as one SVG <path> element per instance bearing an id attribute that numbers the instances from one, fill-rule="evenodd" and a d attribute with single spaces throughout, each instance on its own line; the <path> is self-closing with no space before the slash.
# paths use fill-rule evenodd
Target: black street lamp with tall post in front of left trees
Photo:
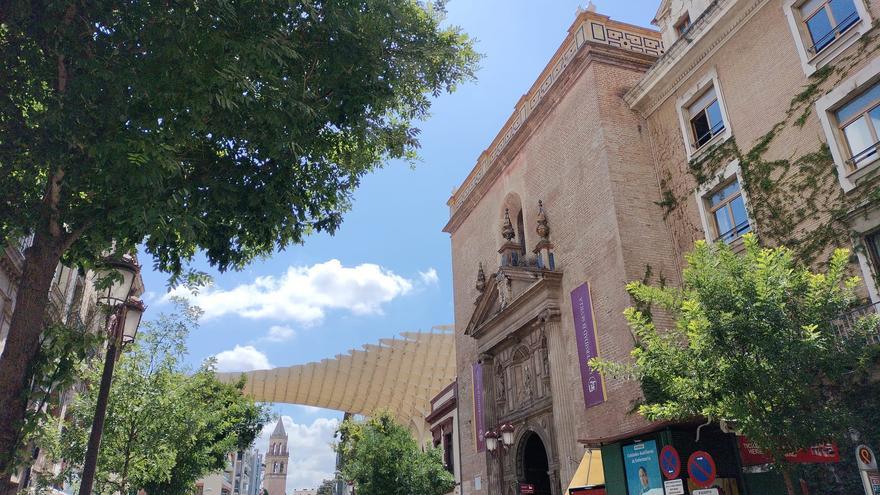
<path id="1" fill-rule="evenodd" d="M 79 495 L 91 495 L 101 448 L 101 433 L 107 416 L 107 399 L 113 381 L 113 368 L 119 359 L 119 351 L 125 344 L 134 342 L 146 306 L 132 296 L 135 278 L 140 266 L 130 258 L 108 259 L 96 271 L 99 282 L 98 303 L 107 307 L 107 356 L 101 373 L 101 388 L 95 404 L 95 417 L 89 435 L 89 446 L 83 463 Z"/>

